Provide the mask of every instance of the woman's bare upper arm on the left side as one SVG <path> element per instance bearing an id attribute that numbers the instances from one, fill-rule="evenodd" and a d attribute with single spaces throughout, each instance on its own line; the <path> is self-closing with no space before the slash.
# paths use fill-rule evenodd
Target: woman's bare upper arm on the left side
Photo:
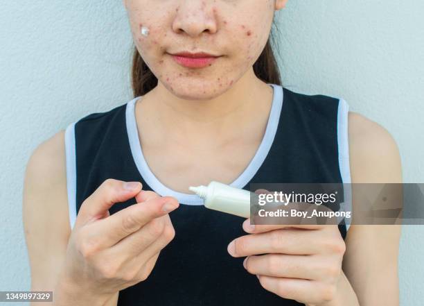
<path id="1" fill-rule="evenodd" d="M 39 144 L 26 165 L 22 218 L 33 291 L 53 291 L 71 233 L 67 203 L 61 130 Z"/>

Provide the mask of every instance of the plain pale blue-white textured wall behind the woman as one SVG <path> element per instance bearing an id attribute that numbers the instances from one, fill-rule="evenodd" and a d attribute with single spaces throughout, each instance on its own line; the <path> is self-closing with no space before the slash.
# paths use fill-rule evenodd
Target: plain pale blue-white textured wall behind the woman
<path id="1" fill-rule="evenodd" d="M 277 13 L 284 86 L 343 97 L 385 126 L 405 182 L 424 182 L 423 12 L 420 0 L 302 0 Z M 30 286 L 21 223 L 30 153 L 72 121 L 131 98 L 131 46 L 121 1 L 0 6 L 0 291 Z M 423 226 L 403 227 L 402 306 L 423 303 L 423 237 Z"/>

